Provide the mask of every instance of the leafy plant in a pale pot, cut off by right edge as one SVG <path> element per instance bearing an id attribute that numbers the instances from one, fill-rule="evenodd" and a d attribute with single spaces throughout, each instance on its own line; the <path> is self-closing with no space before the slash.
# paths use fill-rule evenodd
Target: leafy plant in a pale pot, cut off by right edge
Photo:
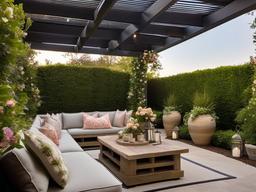
<path id="1" fill-rule="evenodd" d="M 252 96 L 247 106 L 238 112 L 236 121 L 241 124 L 249 159 L 256 160 L 256 63 L 252 62 L 252 64 L 254 64 Z"/>

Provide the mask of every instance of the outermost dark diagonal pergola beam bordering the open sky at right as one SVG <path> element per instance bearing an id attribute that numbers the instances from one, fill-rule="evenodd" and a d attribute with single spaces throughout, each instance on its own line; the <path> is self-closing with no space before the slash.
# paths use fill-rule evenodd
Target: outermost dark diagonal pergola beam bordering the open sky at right
<path id="1" fill-rule="evenodd" d="M 216 26 L 219 26 L 227 21 L 230 21 L 242 14 L 248 13 L 256 9 L 256 1 L 255 0 L 234 0 L 224 8 L 204 17 L 203 19 L 203 28 L 188 28 L 187 35 L 176 41 L 166 41 L 165 46 L 157 47 L 156 51 L 163 51 L 170 47 L 173 47 L 183 41 L 191 39 L 201 33 L 204 33 Z"/>

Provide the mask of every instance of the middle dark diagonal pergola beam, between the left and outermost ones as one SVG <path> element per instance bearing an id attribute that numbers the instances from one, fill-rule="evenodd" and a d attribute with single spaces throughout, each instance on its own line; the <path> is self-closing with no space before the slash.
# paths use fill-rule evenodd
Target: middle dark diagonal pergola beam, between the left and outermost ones
<path id="1" fill-rule="evenodd" d="M 150 24 L 158 15 L 163 13 L 170 6 L 175 4 L 178 0 L 157 0 L 149 8 L 147 8 L 138 18 L 140 25 L 130 25 L 120 35 L 118 42 L 109 42 L 109 50 L 112 51 L 121 46 L 127 39 L 132 37 L 134 33 L 143 30 L 148 24 Z"/>

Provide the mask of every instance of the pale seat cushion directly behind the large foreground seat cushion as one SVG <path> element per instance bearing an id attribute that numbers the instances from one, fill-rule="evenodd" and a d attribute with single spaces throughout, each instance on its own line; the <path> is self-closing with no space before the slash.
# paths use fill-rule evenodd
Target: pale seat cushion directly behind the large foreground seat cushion
<path id="1" fill-rule="evenodd" d="M 67 130 L 61 131 L 59 149 L 62 153 L 83 152 L 83 149 L 77 144 Z"/>

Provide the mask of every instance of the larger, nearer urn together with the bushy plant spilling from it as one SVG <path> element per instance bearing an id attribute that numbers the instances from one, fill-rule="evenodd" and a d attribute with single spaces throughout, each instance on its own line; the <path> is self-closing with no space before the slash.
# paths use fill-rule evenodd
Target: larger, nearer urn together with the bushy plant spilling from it
<path id="1" fill-rule="evenodd" d="M 196 93 L 193 109 L 185 115 L 189 134 L 196 145 L 208 145 L 216 128 L 214 105 L 206 92 Z"/>

